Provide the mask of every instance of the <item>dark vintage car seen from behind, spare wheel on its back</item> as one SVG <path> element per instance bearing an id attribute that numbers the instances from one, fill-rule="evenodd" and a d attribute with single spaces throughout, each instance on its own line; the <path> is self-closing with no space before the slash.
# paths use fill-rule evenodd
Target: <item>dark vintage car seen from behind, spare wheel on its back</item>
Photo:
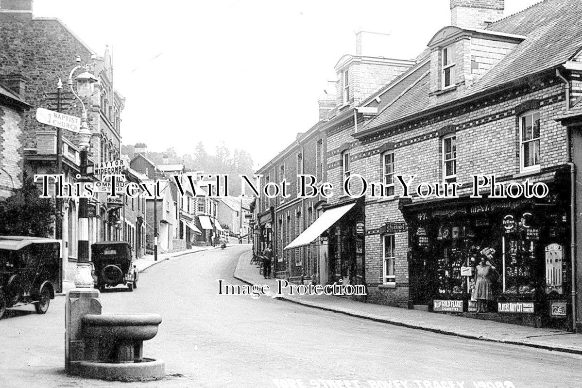
<path id="1" fill-rule="evenodd" d="M 97 288 L 126 285 L 137 288 L 137 269 L 132 261 L 132 249 L 125 241 L 102 241 L 91 245 L 91 260 L 97 276 Z"/>

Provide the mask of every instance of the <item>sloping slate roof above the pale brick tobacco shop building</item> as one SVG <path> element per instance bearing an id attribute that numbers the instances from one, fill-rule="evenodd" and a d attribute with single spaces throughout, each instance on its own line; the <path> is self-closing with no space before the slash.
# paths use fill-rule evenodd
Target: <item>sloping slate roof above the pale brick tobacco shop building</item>
<path id="1" fill-rule="evenodd" d="M 525 35 L 519 45 L 509 52 L 487 73 L 452 99 L 439 103 L 444 106 L 460 99 L 492 91 L 509 82 L 519 80 L 544 70 L 550 70 L 572 59 L 582 48 L 582 1 L 544 0 L 530 8 L 489 24 L 487 30 L 499 33 Z M 430 105 L 428 85 L 430 76 L 425 75 L 393 103 L 386 106 L 372 119 L 359 136 L 379 130 L 406 117 L 434 109 Z M 454 92 L 453 92 L 454 93 Z"/>

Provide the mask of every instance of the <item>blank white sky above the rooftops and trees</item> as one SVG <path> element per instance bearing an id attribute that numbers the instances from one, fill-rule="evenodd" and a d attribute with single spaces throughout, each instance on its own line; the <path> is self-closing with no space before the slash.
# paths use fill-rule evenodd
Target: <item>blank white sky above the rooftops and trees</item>
<path id="1" fill-rule="evenodd" d="M 537 2 L 505 0 L 505 15 Z M 183 155 L 224 143 L 255 167 L 317 123 L 358 31 L 413 59 L 450 24 L 449 0 L 36 0 L 34 16 L 58 17 L 98 55 L 109 45 L 123 144 Z"/>

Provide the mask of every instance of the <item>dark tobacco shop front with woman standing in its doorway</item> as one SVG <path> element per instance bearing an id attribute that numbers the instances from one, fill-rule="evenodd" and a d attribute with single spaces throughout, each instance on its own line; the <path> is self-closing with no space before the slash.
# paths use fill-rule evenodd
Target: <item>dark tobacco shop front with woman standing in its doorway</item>
<path id="1" fill-rule="evenodd" d="M 409 225 L 409 306 L 569 327 L 568 209 L 558 195 L 402 204 Z"/>

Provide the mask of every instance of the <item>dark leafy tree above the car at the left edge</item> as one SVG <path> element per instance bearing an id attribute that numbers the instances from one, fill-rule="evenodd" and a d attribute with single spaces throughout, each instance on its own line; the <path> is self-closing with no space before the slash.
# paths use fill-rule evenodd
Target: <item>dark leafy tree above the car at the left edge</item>
<path id="1" fill-rule="evenodd" d="M 0 201 L 0 235 L 51 237 L 54 222 L 54 202 L 40 197 L 31 178 L 24 177 L 22 188 Z"/>

